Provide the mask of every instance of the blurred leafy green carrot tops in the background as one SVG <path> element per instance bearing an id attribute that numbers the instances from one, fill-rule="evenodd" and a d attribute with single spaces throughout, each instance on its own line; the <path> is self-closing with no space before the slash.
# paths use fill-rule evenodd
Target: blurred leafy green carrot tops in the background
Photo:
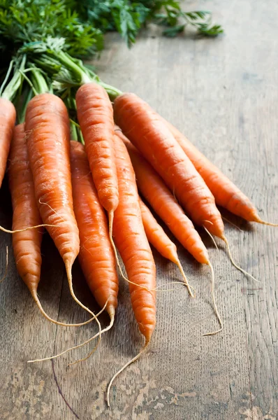
<path id="1" fill-rule="evenodd" d="M 175 36 L 186 25 L 207 36 L 222 32 L 212 25 L 210 12 L 184 12 L 180 1 L 0 0 L 0 48 L 52 36 L 65 39 L 69 54 L 89 56 L 103 49 L 107 31 L 118 31 L 131 46 L 147 22 L 163 25 L 166 36 Z"/>

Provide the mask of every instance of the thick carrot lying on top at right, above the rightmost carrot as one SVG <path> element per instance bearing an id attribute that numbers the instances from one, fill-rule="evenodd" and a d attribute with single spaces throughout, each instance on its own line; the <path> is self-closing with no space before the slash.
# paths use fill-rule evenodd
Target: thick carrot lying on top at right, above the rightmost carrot
<path id="1" fill-rule="evenodd" d="M 144 155 L 191 219 L 224 238 L 224 223 L 215 200 L 191 160 L 152 108 L 136 94 L 115 99 L 115 122 Z"/>

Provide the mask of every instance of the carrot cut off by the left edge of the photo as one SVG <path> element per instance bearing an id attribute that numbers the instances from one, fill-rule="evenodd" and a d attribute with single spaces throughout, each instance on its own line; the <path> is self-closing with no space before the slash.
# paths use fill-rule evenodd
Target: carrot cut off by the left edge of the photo
<path id="1" fill-rule="evenodd" d="M 15 106 L 8 99 L 0 97 L 0 188 L 6 171 L 10 141 L 15 127 Z"/>

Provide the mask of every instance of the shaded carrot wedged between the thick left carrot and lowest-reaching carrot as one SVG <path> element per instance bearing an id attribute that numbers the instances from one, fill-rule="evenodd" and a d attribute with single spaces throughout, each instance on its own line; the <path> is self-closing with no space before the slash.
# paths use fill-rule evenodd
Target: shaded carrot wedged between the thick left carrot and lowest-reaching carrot
<path id="1" fill-rule="evenodd" d="M 78 222 L 82 272 L 100 307 L 114 316 L 117 308 L 118 278 L 108 221 L 98 199 L 85 148 L 71 141 L 73 208 Z"/>

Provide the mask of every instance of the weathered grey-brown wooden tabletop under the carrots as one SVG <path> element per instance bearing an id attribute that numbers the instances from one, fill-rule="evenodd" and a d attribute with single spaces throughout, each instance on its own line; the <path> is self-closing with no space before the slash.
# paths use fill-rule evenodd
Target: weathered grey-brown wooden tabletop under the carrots
<path id="1" fill-rule="evenodd" d="M 215 10 L 226 34 L 216 39 L 180 36 L 175 41 L 142 34 L 132 50 L 116 35 L 96 63 L 108 83 L 132 90 L 177 125 L 208 158 L 231 176 L 263 218 L 278 221 L 278 55 L 275 1 L 198 1 L 186 8 Z M 217 14 L 217 11 L 219 12 Z M 10 225 L 6 185 L 0 193 L 0 223 Z M 227 215 L 226 215 L 227 216 Z M 0 286 L 1 419 L 274 420 L 277 404 L 278 230 L 228 217 L 233 254 L 261 283 L 234 269 L 219 244 L 205 235 L 217 274 L 216 298 L 224 331 L 211 307 L 210 274 L 182 248 L 180 258 L 198 297 L 186 290 L 158 294 L 158 323 L 149 352 L 115 381 L 112 409 L 104 391 L 108 379 L 142 344 L 122 282 L 115 328 L 85 363 L 68 363 L 80 349 L 51 363 L 27 364 L 91 336 L 94 327 L 60 328 L 47 323 L 16 273 L 10 255 L 8 278 Z M 218 241 L 219 243 L 219 241 Z M 1 234 L 0 263 L 10 237 Z M 177 269 L 155 254 L 158 283 L 179 279 Z M 80 299 L 96 308 L 75 264 Z M 43 242 L 39 293 L 47 313 L 59 321 L 83 321 L 86 314 L 68 293 L 64 267 L 50 239 Z M 103 323 L 108 319 L 103 316 Z M 57 388 L 59 384 L 68 408 Z"/>

